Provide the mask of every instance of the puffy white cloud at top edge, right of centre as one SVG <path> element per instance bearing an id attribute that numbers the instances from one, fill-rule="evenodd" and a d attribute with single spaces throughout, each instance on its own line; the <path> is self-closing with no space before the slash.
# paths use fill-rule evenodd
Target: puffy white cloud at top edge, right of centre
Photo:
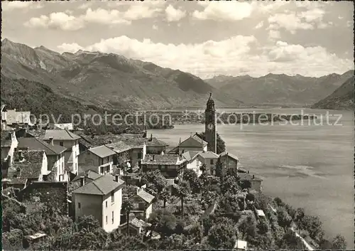
<path id="1" fill-rule="evenodd" d="M 196 19 L 212 19 L 214 21 L 236 21 L 251 16 L 253 5 L 239 1 L 210 1 L 199 2 L 204 6 L 203 11 L 194 11 L 192 16 Z"/>

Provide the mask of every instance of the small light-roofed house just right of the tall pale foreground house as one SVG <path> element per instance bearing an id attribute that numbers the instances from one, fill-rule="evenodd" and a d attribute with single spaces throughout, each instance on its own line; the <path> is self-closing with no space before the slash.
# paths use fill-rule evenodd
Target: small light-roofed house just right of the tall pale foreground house
<path id="1" fill-rule="evenodd" d="M 136 194 L 129 198 L 129 201 L 133 205 L 131 213 L 134 213 L 136 218 L 147 220 L 152 213 L 154 198 L 153 195 L 144 191 L 143 188 L 137 188 Z"/>

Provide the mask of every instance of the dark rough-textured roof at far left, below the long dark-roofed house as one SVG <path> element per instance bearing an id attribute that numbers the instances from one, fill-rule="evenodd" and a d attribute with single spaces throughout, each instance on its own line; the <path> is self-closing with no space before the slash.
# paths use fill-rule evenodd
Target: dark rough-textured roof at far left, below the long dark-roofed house
<path id="1" fill-rule="evenodd" d="M 43 164 L 45 151 L 22 151 L 23 161 L 13 161 L 9 168 L 9 178 L 38 178 Z M 15 159 L 15 158 L 14 158 Z M 16 175 L 16 177 L 13 177 Z"/>

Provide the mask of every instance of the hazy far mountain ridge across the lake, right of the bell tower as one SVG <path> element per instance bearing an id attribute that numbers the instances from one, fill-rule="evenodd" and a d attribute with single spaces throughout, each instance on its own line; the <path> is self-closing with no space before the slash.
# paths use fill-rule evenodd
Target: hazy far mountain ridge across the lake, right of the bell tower
<path id="1" fill-rule="evenodd" d="M 205 81 L 246 104 L 308 106 L 330 95 L 352 75 L 354 70 L 320 78 L 272 73 L 259 78 L 219 75 Z"/>

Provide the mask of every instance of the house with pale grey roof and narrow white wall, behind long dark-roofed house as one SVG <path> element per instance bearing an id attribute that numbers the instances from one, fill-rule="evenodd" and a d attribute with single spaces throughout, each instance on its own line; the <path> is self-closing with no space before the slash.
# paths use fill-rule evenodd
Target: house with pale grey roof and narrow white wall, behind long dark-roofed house
<path id="1" fill-rule="evenodd" d="M 53 141 L 53 144 L 63 146 L 65 150 L 65 169 L 77 174 L 80 137 L 68 130 L 46 130 L 43 140 Z"/>

